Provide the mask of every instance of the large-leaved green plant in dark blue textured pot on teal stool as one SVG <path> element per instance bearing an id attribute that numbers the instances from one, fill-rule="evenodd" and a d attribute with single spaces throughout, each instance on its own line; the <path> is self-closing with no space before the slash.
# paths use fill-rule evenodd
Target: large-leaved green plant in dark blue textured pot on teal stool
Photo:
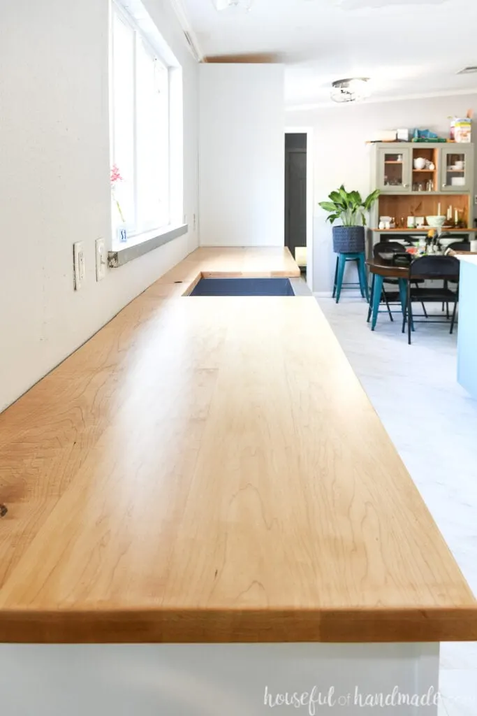
<path id="1" fill-rule="evenodd" d="M 365 250 L 366 215 L 379 195 L 380 190 L 376 189 L 363 201 L 359 191 L 346 191 L 341 185 L 330 193 L 328 201 L 320 201 L 320 207 L 329 213 L 326 221 L 333 224 L 340 219 L 342 223 L 342 226 L 333 226 L 335 253 Z"/>

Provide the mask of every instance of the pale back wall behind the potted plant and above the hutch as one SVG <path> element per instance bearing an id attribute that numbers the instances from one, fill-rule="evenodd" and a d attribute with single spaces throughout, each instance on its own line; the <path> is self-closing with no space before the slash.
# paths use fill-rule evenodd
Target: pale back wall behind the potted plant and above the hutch
<path id="1" fill-rule="evenodd" d="M 336 105 L 305 112 L 288 111 L 287 127 L 313 127 L 315 163 L 315 203 L 313 220 L 313 290 L 328 292 L 333 285 L 335 254 L 326 213 L 318 206 L 330 190 L 344 183 L 348 190 L 367 195 L 370 185 L 370 147 L 373 131 L 397 127 L 431 129 L 448 136 L 448 117 L 465 116 L 477 110 L 477 95 L 433 97 L 423 100 L 357 105 Z M 474 129 L 477 142 L 477 125 Z"/>

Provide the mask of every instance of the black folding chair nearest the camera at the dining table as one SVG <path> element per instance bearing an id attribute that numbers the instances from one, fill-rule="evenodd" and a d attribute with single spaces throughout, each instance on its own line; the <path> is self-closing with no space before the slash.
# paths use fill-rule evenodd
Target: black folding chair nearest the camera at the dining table
<path id="1" fill-rule="evenodd" d="M 458 280 L 459 280 L 460 264 L 455 256 L 421 256 L 416 258 L 409 266 L 408 279 L 408 295 L 403 316 L 403 333 L 405 325 L 408 324 L 408 344 L 410 345 L 411 331 L 415 323 L 423 323 L 425 321 L 415 321 L 413 316 L 413 302 L 419 303 L 441 303 L 454 304 L 451 320 L 451 330 L 453 333 L 454 324 L 456 323 L 457 304 L 458 304 Z M 443 279 L 443 286 L 436 288 L 425 288 L 421 285 L 415 286 L 415 281 L 426 281 L 426 279 Z M 457 284 L 456 290 L 452 291 L 448 288 L 448 281 Z M 425 314 L 426 319 L 428 315 Z M 434 319 L 434 323 L 446 323 L 448 317 L 442 321 Z"/>

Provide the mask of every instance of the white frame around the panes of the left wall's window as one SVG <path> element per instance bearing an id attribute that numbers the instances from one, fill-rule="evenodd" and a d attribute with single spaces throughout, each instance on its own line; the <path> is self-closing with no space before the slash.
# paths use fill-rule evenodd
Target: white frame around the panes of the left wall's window
<path id="1" fill-rule="evenodd" d="M 138 239 L 144 235 L 149 235 L 150 233 L 154 231 L 164 231 L 167 226 L 171 226 L 171 74 L 170 70 L 171 67 L 169 67 L 169 64 L 167 61 L 161 57 L 159 52 L 157 52 L 156 49 L 152 46 L 152 44 L 149 42 L 147 37 L 145 36 L 144 32 L 142 32 L 142 29 L 137 25 L 136 21 L 134 21 L 134 18 L 127 12 L 127 10 L 122 6 L 122 4 L 118 0 L 111 0 L 110 1 L 110 24 L 109 24 L 109 155 L 110 155 L 110 163 L 111 166 L 114 165 L 115 158 L 115 148 L 116 148 L 116 117 L 114 112 L 114 19 L 115 15 L 119 18 L 119 21 L 122 21 L 129 30 L 132 32 L 132 39 L 133 39 L 133 55 L 132 55 L 132 77 L 133 77 L 133 102 L 134 102 L 134 112 L 133 112 L 133 135 L 132 135 L 132 149 L 133 149 L 133 190 L 132 190 L 132 196 L 133 196 L 133 203 L 134 203 L 134 224 L 132 222 L 127 223 L 128 226 L 132 226 L 132 228 L 127 228 L 127 234 L 130 238 Z M 138 201 L 138 195 L 139 195 L 139 179 L 138 179 L 138 145 L 137 145 L 137 117 L 138 117 L 138 104 L 137 104 L 137 84 L 138 84 L 138 78 L 137 78 L 137 53 L 138 53 L 138 43 L 142 43 L 142 47 L 147 52 L 149 57 L 152 59 L 154 64 L 158 64 L 161 69 L 167 73 L 167 109 L 166 109 L 166 115 L 167 115 L 167 136 L 164 137 L 164 145 L 167 147 L 167 153 L 166 153 L 166 165 L 167 165 L 167 206 L 166 206 L 166 216 L 165 221 L 157 221 L 154 223 L 147 223 L 144 225 L 139 225 L 140 217 L 138 216 L 138 208 L 139 208 L 139 201 Z M 160 71 L 160 70 L 159 70 Z M 119 167 L 119 170 L 121 168 Z M 114 221 L 112 221 L 112 241 L 113 244 L 117 242 L 117 238 L 114 235 Z"/>

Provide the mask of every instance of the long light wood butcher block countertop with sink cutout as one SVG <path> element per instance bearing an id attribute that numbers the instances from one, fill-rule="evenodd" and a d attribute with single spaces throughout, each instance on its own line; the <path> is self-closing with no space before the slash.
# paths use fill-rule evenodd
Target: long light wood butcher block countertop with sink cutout
<path id="1" fill-rule="evenodd" d="M 0 415 L 0 641 L 477 639 L 315 299 L 181 296 L 197 271 L 297 275 L 192 253 Z"/>

